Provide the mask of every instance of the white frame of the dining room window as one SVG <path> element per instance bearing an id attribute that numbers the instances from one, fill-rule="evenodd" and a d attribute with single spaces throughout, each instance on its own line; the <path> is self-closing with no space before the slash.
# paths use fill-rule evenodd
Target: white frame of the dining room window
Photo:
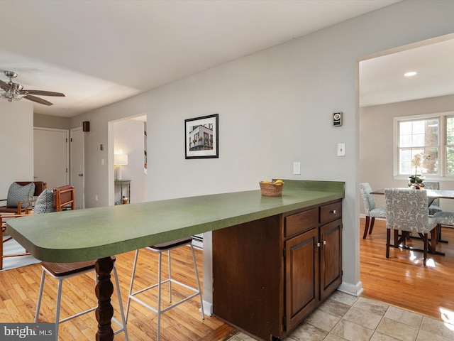
<path id="1" fill-rule="evenodd" d="M 426 175 L 430 180 L 453 180 L 454 175 L 446 174 L 446 118 L 454 117 L 454 112 L 436 112 L 412 116 L 394 117 L 393 119 L 393 177 L 396 180 L 408 179 L 409 175 L 399 174 L 399 122 L 418 119 L 438 118 L 438 175 Z"/>

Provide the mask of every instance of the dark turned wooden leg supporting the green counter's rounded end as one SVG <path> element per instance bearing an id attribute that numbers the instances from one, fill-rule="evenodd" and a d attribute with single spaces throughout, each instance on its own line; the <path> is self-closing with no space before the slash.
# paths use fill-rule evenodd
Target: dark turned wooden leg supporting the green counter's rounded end
<path id="1" fill-rule="evenodd" d="M 98 259 L 95 269 L 98 275 L 95 289 L 98 298 L 96 341 L 112 341 L 114 340 L 114 330 L 112 330 L 111 319 L 114 316 L 114 307 L 111 305 L 111 296 L 114 293 L 114 284 L 111 282 L 111 271 L 114 269 L 114 261 L 111 257 Z"/>

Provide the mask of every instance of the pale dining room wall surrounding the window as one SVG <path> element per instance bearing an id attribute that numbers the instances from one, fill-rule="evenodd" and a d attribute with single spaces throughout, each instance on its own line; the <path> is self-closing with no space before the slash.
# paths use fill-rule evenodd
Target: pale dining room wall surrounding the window
<path id="1" fill-rule="evenodd" d="M 454 75 L 453 75 L 454 77 Z M 418 99 L 360 109 L 360 182 L 372 188 L 405 187 L 408 180 L 393 177 L 393 119 L 394 117 L 432 114 L 454 110 L 454 95 Z M 377 145 L 377 141 L 380 144 Z M 443 190 L 454 190 L 453 179 L 426 177 L 440 181 Z M 384 197 L 375 196 L 377 206 L 384 206 Z M 443 210 L 453 211 L 453 200 L 441 200 Z M 364 214 L 361 202 L 360 212 Z"/>

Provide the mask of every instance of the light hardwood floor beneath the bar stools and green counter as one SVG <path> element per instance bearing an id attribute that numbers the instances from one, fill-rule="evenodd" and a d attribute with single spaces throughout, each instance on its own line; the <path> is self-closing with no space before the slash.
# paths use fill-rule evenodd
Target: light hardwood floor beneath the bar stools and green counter
<path id="1" fill-rule="evenodd" d="M 131 269 L 133 266 L 134 252 L 119 254 L 116 256 L 116 269 L 121 286 L 121 294 L 124 308 L 126 309 L 127 293 L 131 281 Z M 199 277 L 203 278 L 202 251 L 196 250 L 196 259 L 199 269 Z M 167 276 L 167 256 L 162 258 L 163 275 Z M 144 283 L 156 283 L 157 275 L 157 254 L 153 251 L 141 251 L 138 259 L 138 269 L 135 283 L 141 288 Z M 196 286 L 192 268 L 192 255 L 189 247 L 183 247 L 172 251 L 172 275 L 175 279 Z M 18 269 L 0 272 L 0 322 L 1 323 L 31 323 L 34 320 L 36 300 L 41 276 L 40 264 L 24 266 Z M 55 298 L 57 282 L 47 277 L 43 303 L 39 322 L 53 322 L 55 317 Z M 135 288 L 138 288 L 135 286 Z M 167 286 L 162 291 L 163 305 L 167 302 Z M 176 293 L 177 286 L 173 286 L 173 301 L 180 297 Z M 178 288 L 179 289 L 179 288 Z M 184 289 L 183 289 L 184 292 Z M 72 315 L 72 313 L 86 310 L 96 305 L 94 295 L 94 274 L 85 274 L 70 278 L 63 283 L 63 298 L 61 318 Z M 148 295 L 148 293 L 147 293 Z M 152 302 L 156 306 L 155 293 L 150 293 Z M 167 304 L 167 303 L 165 303 Z M 114 316 L 118 315 L 118 298 L 114 292 L 112 297 L 114 305 Z M 164 305 L 165 306 L 165 305 Z M 80 310 L 79 310 L 80 308 Z M 201 319 L 199 312 L 200 303 L 197 298 L 182 303 L 166 313 L 161 318 L 161 340 L 162 341 L 212 341 L 226 340 L 236 330 L 222 323 L 209 314 L 205 320 Z M 116 330 L 116 325 L 112 323 Z M 97 324 L 94 313 L 81 316 L 74 320 L 62 323 L 59 328 L 59 340 L 93 341 L 96 334 Z M 156 340 L 156 314 L 143 308 L 138 303 L 132 302 L 128 318 L 128 335 L 131 341 Z M 125 340 L 124 334 L 119 333 L 114 340 Z"/>

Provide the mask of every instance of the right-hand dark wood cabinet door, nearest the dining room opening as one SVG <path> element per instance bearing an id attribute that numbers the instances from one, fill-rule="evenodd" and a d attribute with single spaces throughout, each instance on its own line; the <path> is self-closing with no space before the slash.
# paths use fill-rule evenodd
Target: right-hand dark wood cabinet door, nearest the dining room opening
<path id="1" fill-rule="evenodd" d="M 342 220 L 320 227 L 320 299 L 323 301 L 342 283 Z"/>

